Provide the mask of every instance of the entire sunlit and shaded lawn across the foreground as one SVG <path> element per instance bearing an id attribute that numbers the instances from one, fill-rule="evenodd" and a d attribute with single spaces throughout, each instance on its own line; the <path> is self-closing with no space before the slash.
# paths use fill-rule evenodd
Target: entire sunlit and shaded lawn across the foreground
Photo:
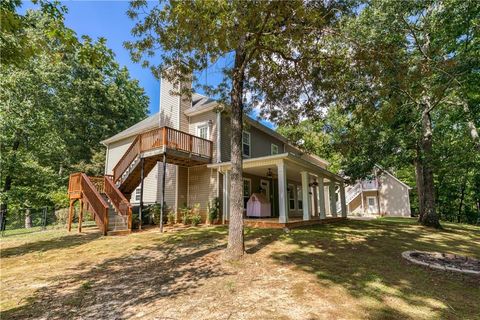
<path id="1" fill-rule="evenodd" d="M 1 240 L 5 319 L 480 319 L 478 277 L 410 265 L 410 249 L 480 258 L 480 228 L 411 219 L 247 229 L 226 263 L 225 227 L 103 237 L 49 230 Z"/>

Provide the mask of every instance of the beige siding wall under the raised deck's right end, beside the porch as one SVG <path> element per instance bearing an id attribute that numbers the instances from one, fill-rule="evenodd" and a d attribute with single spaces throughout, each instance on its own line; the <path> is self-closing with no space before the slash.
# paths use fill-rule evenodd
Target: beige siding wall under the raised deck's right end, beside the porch
<path id="1" fill-rule="evenodd" d="M 217 170 L 207 166 L 188 168 L 188 205 L 200 204 L 202 219 L 207 217 L 207 204 L 218 193 Z"/>

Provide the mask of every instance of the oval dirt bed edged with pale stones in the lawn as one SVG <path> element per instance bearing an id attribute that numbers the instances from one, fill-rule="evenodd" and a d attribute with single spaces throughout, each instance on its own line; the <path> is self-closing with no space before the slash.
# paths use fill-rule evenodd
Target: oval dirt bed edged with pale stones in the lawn
<path id="1" fill-rule="evenodd" d="M 403 257 L 415 264 L 425 265 L 435 269 L 472 273 L 480 275 L 480 260 L 440 252 L 405 251 Z"/>

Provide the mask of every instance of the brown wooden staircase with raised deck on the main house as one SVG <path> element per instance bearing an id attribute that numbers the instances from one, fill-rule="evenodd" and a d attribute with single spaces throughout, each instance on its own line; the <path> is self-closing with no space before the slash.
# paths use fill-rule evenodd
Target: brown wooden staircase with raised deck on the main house
<path id="1" fill-rule="evenodd" d="M 113 175 L 88 177 L 70 175 L 68 195 L 71 230 L 75 202 L 80 202 L 79 231 L 83 210 L 92 213 L 104 235 L 128 233 L 132 229 L 130 195 L 157 162 L 165 161 L 184 167 L 211 163 L 213 143 L 209 140 L 161 127 L 139 134 L 113 168 Z"/>

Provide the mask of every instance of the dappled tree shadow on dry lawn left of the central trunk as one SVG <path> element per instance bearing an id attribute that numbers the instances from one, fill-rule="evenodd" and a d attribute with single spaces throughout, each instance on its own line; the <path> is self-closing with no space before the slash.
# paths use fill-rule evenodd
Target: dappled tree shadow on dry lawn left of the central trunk
<path id="1" fill-rule="evenodd" d="M 160 299 L 192 293 L 208 279 L 228 274 L 219 258 L 225 234 L 212 228 L 155 235 L 128 255 L 52 279 L 55 285 L 38 289 L 2 318 L 128 319 L 139 312 L 162 318 L 168 308 L 174 313 L 175 306 Z"/>

